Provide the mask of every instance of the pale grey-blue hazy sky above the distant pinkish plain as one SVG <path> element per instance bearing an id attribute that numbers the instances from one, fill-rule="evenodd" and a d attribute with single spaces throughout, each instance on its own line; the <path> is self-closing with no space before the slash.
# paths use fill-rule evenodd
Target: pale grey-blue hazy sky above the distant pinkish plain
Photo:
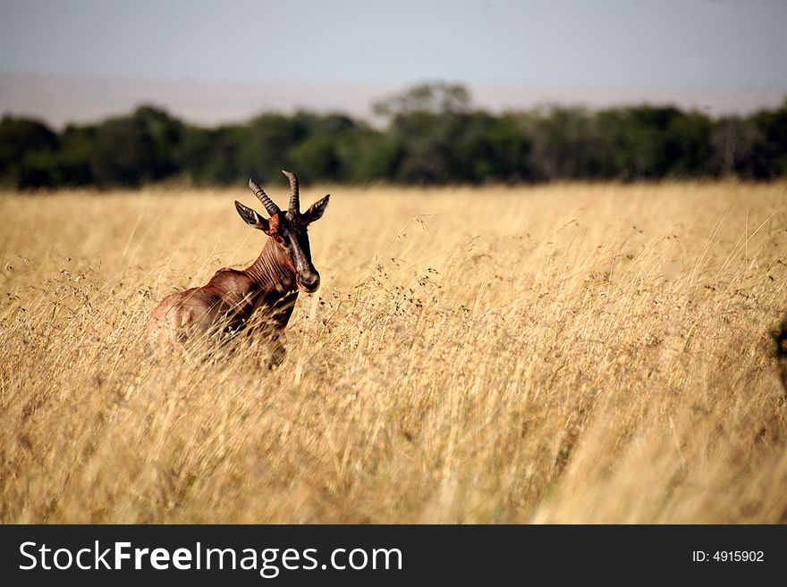
<path id="1" fill-rule="evenodd" d="M 0 100 L 31 74 L 774 96 L 785 58 L 787 0 L 0 0 Z"/>

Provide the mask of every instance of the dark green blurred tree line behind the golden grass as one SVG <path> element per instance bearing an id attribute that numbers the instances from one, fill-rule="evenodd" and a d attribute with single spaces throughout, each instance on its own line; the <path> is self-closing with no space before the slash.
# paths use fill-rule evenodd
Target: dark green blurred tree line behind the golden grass
<path id="1" fill-rule="evenodd" d="M 262 113 L 204 128 L 164 110 L 56 132 L 5 115 L 0 185 L 14 189 L 138 187 L 162 180 L 240 185 L 404 184 L 787 176 L 787 100 L 773 110 L 712 119 L 671 106 L 591 111 L 551 106 L 487 113 L 459 85 L 410 88 L 374 105 L 381 128 L 341 113 Z"/>

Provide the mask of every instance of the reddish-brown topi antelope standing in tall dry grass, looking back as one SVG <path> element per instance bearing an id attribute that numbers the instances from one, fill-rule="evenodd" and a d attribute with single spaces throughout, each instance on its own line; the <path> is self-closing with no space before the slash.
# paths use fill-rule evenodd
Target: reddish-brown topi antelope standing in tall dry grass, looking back
<path id="1" fill-rule="evenodd" d="M 320 278 L 311 262 L 307 227 L 326 211 L 330 195 L 300 214 L 298 178 L 294 173 L 283 173 L 290 180 L 290 205 L 286 212 L 253 180 L 249 180 L 249 187 L 270 219 L 235 201 L 243 221 L 268 236 L 257 261 L 243 270 L 219 269 L 201 288 L 164 298 L 150 316 L 151 340 L 185 340 L 195 332 L 233 334 L 246 326 L 258 308 L 265 313 L 272 340 L 276 340 L 290 320 L 298 289 L 317 289 Z"/>

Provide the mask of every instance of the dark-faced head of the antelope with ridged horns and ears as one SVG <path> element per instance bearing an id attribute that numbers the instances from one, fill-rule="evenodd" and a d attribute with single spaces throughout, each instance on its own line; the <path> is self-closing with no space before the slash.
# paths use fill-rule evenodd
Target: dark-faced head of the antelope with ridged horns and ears
<path id="1" fill-rule="evenodd" d="M 235 208 L 244 222 L 270 237 L 277 256 L 289 264 L 289 269 L 295 273 L 295 282 L 300 289 L 310 293 L 319 287 L 319 273 L 311 262 L 307 227 L 325 213 L 330 194 L 317 200 L 309 210 L 301 214 L 298 178 L 294 173 L 282 172 L 290 180 L 290 205 L 286 211 L 281 210 L 253 180 L 249 180 L 249 187 L 265 206 L 270 218 L 262 217 L 238 201 L 235 201 Z"/>

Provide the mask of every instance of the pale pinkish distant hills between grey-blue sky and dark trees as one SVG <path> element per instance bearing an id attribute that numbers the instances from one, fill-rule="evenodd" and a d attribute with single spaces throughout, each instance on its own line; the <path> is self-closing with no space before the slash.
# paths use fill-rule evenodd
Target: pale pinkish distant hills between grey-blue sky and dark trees
<path id="1" fill-rule="evenodd" d="M 409 84 L 326 81 L 216 81 L 106 78 L 0 72 L 0 112 L 44 120 L 55 128 L 99 122 L 129 113 L 140 105 L 155 105 L 191 123 L 220 126 L 248 122 L 259 113 L 343 113 L 370 123 L 375 101 L 400 94 Z M 472 84 L 470 105 L 492 113 L 533 110 L 550 105 L 599 110 L 630 105 L 672 105 L 718 118 L 745 115 L 782 105 L 787 90 L 582 88 L 526 84 Z M 294 95 L 294 96 L 293 96 Z"/>

